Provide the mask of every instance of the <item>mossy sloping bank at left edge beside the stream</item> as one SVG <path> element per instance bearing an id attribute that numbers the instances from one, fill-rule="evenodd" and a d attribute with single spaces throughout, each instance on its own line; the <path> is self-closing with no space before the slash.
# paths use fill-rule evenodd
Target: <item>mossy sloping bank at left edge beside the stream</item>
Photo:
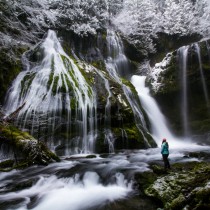
<path id="1" fill-rule="evenodd" d="M 12 125 L 0 125 L 0 145 L 1 148 L 6 148 L 2 150 L 3 155 L 10 159 L 1 163 L 2 171 L 59 161 L 59 158 L 42 142 Z"/>

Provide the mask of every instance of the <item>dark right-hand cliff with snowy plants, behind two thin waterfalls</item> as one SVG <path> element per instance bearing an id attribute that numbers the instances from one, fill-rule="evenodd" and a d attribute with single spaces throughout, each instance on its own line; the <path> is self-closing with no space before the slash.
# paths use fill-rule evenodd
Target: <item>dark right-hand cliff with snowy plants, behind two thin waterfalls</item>
<path id="1" fill-rule="evenodd" d="M 188 108 L 188 124 L 192 135 L 207 135 L 210 129 L 209 95 L 210 90 L 210 57 L 209 40 L 193 43 L 186 47 L 186 100 Z M 200 51 L 200 55 L 199 55 Z M 161 63 L 155 65 L 147 78 L 152 94 L 160 108 L 169 119 L 176 134 L 183 133 L 183 57 L 181 48 L 167 54 Z M 200 56 L 200 61 L 199 61 Z M 201 73 L 202 71 L 202 73 Z M 203 74 L 203 75 L 202 75 Z M 208 98 L 209 100 L 209 98 Z M 174 114 L 176 113 L 176 114 Z M 197 138 L 196 137 L 196 138 Z M 199 139 L 199 137 L 198 137 Z"/>

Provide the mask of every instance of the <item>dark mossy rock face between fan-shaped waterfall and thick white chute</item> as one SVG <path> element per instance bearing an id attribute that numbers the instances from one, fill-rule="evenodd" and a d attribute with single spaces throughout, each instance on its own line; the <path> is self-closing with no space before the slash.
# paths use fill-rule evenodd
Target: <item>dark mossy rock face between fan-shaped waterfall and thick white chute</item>
<path id="1" fill-rule="evenodd" d="M 122 84 L 131 90 L 139 108 L 141 108 L 137 92 L 131 82 L 121 78 L 122 84 L 117 83 L 106 72 L 105 64 L 102 61 L 99 65 L 91 65 L 77 60 L 77 65 L 97 95 L 96 152 L 110 151 L 110 144 L 106 141 L 107 135 L 111 135 L 109 137 L 112 139 L 115 149 L 155 147 L 156 144 L 148 131 L 143 127 L 141 131 L 138 129 L 134 112 L 123 91 Z M 106 83 L 109 84 L 109 88 Z M 147 119 L 145 113 L 143 114 Z M 149 126 L 148 121 L 147 125 Z"/>

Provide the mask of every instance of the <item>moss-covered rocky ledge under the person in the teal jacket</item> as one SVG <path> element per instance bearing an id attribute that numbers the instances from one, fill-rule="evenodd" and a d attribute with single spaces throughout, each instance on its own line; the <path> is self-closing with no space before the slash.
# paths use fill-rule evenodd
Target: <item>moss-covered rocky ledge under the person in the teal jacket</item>
<path id="1" fill-rule="evenodd" d="M 193 152 L 189 156 L 199 159 L 176 162 L 165 171 L 161 164 L 151 164 L 152 171 L 136 174 L 142 194 L 150 197 L 160 209 L 210 209 L 209 153 Z"/>

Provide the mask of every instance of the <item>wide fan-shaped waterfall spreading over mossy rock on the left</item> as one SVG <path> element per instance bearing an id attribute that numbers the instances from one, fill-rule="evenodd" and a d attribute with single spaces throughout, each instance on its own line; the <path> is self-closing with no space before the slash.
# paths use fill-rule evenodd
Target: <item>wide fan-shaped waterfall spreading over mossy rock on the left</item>
<path id="1" fill-rule="evenodd" d="M 54 31 L 49 30 L 46 39 L 33 52 L 43 58 L 34 63 L 28 59 L 30 53 L 24 57 L 27 68 L 18 75 L 7 94 L 7 114 L 25 103 L 18 115 L 19 127 L 28 129 L 32 135 L 41 129 L 51 149 L 61 142 L 55 138 L 59 130 L 66 140 L 66 153 L 93 152 L 97 106 L 94 91 L 64 52 Z M 72 129 L 76 131 L 74 136 Z M 71 137 L 74 140 L 70 142 Z M 74 145 L 74 151 L 70 145 Z"/>

